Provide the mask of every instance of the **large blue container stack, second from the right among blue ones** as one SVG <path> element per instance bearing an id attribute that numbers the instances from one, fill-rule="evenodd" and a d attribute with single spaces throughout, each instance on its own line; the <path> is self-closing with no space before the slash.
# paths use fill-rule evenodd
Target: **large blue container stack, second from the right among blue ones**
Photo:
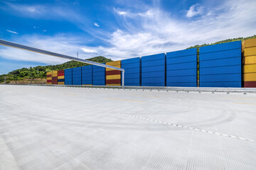
<path id="1" fill-rule="evenodd" d="M 166 54 L 166 86 L 196 87 L 196 48 Z"/>

